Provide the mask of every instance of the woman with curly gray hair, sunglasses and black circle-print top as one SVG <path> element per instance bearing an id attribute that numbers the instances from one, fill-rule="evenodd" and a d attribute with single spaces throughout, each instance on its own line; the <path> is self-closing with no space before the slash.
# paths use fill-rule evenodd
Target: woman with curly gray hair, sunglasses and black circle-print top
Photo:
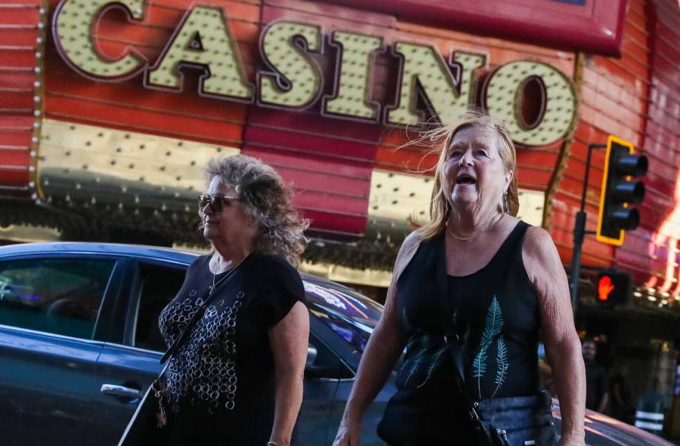
<path id="1" fill-rule="evenodd" d="M 212 252 L 189 266 L 159 325 L 172 355 L 160 416 L 170 445 L 289 445 L 303 397 L 309 314 L 294 265 L 303 219 L 255 158 L 207 164 L 198 214 Z"/>

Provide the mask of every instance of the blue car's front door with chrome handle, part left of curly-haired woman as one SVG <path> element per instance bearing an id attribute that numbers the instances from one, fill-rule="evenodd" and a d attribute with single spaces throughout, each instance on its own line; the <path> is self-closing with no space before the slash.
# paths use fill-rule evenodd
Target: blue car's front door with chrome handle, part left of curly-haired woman
<path id="1" fill-rule="evenodd" d="M 152 260 L 130 262 L 113 318 L 110 338 L 96 367 L 93 416 L 85 446 L 115 446 L 140 398 L 162 370 L 166 345 L 158 329 L 160 311 L 184 281 L 186 265 Z"/>

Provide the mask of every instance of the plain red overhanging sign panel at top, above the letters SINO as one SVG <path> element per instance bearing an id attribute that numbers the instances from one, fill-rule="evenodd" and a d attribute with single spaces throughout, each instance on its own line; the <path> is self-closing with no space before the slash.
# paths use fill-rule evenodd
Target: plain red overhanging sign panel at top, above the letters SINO
<path id="1" fill-rule="evenodd" d="M 329 1 L 329 0 L 325 0 Z M 330 2 L 330 1 L 329 1 Z M 540 46 L 621 55 L 627 0 L 332 0 L 428 23 Z"/>

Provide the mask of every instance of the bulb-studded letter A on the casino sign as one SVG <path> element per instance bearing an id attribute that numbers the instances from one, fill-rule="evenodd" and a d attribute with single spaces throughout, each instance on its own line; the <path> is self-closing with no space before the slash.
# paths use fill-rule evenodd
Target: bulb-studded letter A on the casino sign
<path id="1" fill-rule="evenodd" d="M 241 65 L 238 46 L 229 32 L 222 8 L 197 6 L 187 12 L 159 58 L 146 74 L 146 85 L 181 89 L 180 67 L 204 70 L 201 93 L 250 101 L 253 85 Z"/>

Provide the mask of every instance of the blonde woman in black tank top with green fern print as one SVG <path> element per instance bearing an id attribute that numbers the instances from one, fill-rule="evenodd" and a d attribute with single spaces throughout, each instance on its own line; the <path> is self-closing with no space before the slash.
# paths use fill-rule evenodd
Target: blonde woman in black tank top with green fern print
<path id="1" fill-rule="evenodd" d="M 434 137 L 432 136 L 434 135 Z M 561 402 L 561 445 L 584 444 L 585 374 L 568 282 L 550 235 L 516 218 L 516 153 L 501 123 L 470 112 L 441 145 L 430 222 L 396 259 L 335 445 L 405 350 L 378 434 L 389 445 L 551 445 L 539 332 Z"/>

